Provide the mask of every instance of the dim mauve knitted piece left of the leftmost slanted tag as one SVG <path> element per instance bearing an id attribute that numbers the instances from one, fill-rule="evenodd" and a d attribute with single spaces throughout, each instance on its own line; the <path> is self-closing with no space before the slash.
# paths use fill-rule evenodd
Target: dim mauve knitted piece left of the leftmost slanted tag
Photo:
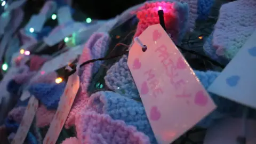
<path id="1" fill-rule="evenodd" d="M 10 119 L 13 119 L 14 122 L 16 123 L 21 123 L 23 115 L 25 113 L 26 107 L 17 107 L 17 108 L 13 108 L 9 114 L 8 117 Z"/>

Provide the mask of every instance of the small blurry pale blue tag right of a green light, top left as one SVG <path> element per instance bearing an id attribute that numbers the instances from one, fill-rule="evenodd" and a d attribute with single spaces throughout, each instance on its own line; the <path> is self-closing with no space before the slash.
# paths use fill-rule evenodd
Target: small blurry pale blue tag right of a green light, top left
<path id="1" fill-rule="evenodd" d="M 60 7 L 60 9 L 58 10 L 59 25 L 62 25 L 70 21 L 73 21 L 71 17 L 70 7 L 69 6 Z"/>

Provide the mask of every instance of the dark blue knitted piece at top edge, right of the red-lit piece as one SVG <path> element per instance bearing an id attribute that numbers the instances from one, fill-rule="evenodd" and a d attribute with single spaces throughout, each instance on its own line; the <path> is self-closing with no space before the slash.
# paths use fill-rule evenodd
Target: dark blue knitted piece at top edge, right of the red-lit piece
<path id="1" fill-rule="evenodd" d="M 205 20 L 211 12 L 212 5 L 215 0 L 198 0 L 197 1 L 197 14 L 198 20 Z"/>

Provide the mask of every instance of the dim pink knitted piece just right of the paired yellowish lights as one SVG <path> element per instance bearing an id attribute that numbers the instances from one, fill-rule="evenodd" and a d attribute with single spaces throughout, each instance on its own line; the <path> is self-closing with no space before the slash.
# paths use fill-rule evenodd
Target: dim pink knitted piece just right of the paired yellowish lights
<path id="1" fill-rule="evenodd" d="M 30 65 L 29 65 L 30 69 L 29 70 L 30 71 L 39 70 L 44 65 L 45 61 L 47 61 L 47 58 L 43 58 L 43 57 L 40 57 L 38 55 L 33 55 L 30 58 Z"/>

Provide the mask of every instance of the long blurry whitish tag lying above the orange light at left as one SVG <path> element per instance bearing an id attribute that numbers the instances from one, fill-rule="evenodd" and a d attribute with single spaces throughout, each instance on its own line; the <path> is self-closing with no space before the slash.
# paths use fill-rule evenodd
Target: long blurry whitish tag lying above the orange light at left
<path id="1" fill-rule="evenodd" d="M 60 54 L 58 57 L 46 61 L 40 71 L 44 74 L 48 74 L 54 70 L 65 67 L 71 60 L 76 59 L 78 54 L 83 52 L 83 48 L 82 45 L 70 48 L 69 51 Z"/>

